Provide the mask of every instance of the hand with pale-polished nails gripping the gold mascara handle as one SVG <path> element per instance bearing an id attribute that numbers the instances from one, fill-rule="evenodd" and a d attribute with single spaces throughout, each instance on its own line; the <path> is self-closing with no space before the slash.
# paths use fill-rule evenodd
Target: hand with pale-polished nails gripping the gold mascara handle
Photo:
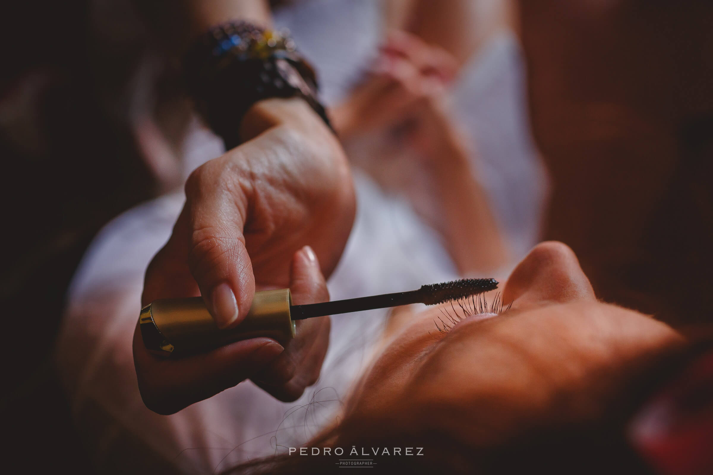
<path id="1" fill-rule="evenodd" d="M 143 305 L 202 295 L 217 325 L 228 328 L 245 318 L 256 288 L 290 285 L 290 262 L 302 246 L 312 246 L 324 275 L 337 265 L 354 219 L 354 191 L 336 137 L 300 99 L 261 101 L 242 124 L 248 141 L 188 179 L 173 234 L 146 271 Z M 293 291 L 295 303 L 326 297 Z M 250 377 L 275 397 L 294 400 L 319 374 L 322 325 L 301 325 L 283 356 L 277 342 L 257 338 L 174 361 L 148 354 L 137 327 L 143 400 L 168 414 Z"/>

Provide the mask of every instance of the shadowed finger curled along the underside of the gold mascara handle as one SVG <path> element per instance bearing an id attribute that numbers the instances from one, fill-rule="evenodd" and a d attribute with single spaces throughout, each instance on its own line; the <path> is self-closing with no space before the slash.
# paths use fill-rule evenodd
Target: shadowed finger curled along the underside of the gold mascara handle
<path id="1" fill-rule="evenodd" d="M 159 414 L 173 414 L 237 385 L 274 361 L 284 348 L 270 338 L 253 338 L 209 353 L 178 360 L 148 353 L 138 325 L 133 356 L 144 404 Z"/>

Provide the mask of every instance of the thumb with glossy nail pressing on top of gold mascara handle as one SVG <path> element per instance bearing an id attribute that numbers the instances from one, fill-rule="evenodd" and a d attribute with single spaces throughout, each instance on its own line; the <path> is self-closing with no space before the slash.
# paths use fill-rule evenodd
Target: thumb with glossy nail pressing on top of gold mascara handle
<path id="1" fill-rule="evenodd" d="M 218 328 L 240 323 L 252 304 L 255 277 L 242 234 L 247 184 L 225 173 L 232 155 L 211 160 L 186 182 L 188 266 Z"/>

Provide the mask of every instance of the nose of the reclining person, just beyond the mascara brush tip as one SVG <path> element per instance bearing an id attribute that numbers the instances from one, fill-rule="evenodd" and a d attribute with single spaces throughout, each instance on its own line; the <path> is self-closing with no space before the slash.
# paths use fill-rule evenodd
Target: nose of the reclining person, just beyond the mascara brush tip
<path id="1" fill-rule="evenodd" d="M 543 301 L 595 300 L 594 289 L 566 244 L 546 241 L 535 246 L 508 278 L 503 302 L 523 308 Z"/>

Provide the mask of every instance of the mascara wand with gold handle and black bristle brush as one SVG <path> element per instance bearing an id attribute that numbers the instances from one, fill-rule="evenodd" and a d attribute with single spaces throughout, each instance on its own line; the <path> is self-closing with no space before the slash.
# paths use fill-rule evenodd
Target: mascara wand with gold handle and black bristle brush
<path id="1" fill-rule="evenodd" d="M 496 288 L 498 281 L 494 278 L 463 278 L 421 286 L 416 291 L 307 305 L 292 305 L 289 288 L 260 291 L 255 292 L 245 320 L 226 330 L 217 328 L 202 297 L 165 298 L 153 301 L 141 309 L 139 323 L 143 343 L 152 353 L 189 355 L 260 336 L 275 338 L 284 343 L 294 338 L 294 320 L 410 303 L 436 305 Z"/>

